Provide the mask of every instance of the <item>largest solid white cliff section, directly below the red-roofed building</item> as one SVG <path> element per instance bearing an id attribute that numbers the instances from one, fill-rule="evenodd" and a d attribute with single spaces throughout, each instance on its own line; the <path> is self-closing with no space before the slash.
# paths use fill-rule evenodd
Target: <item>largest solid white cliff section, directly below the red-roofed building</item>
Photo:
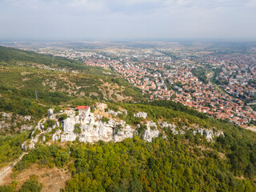
<path id="1" fill-rule="evenodd" d="M 53 140 L 61 139 L 62 142 L 72 142 L 78 139 L 80 142 L 98 142 L 99 140 L 121 142 L 125 138 L 133 137 L 134 128 L 126 125 L 126 122 L 122 120 L 117 122 L 114 119 L 102 122 L 99 118 L 101 118 L 100 115 L 95 118 L 94 114 L 90 112 L 79 112 L 77 116 L 71 114 L 62 122 L 63 132 L 55 133 Z M 79 133 L 74 133 L 75 125 L 80 127 Z"/>

